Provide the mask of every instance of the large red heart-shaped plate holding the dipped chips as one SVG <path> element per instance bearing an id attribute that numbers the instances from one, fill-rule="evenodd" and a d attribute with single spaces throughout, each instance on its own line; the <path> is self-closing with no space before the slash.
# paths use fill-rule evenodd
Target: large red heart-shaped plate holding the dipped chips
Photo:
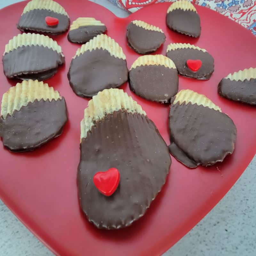
<path id="1" fill-rule="evenodd" d="M 27 1 L 26 1 L 27 2 Z M 0 11 L 0 49 L 20 33 L 16 23 L 26 4 L 21 2 Z M 60 2 L 60 1 L 59 1 Z M 165 55 L 171 42 L 191 43 L 205 48 L 215 60 L 209 81 L 180 77 L 179 89 L 189 88 L 209 97 L 236 124 L 235 151 L 222 164 L 188 169 L 172 157 L 170 174 L 161 193 L 148 212 L 131 227 L 102 231 L 90 224 L 80 211 L 76 187 L 79 163 L 80 121 L 88 100 L 71 90 L 67 72 L 79 45 L 67 40 L 67 33 L 54 36 L 61 45 L 66 64 L 47 83 L 60 91 L 67 102 L 69 121 L 63 134 L 34 152 L 10 153 L 0 148 L 0 197 L 12 212 L 57 255 L 159 255 L 184 236 L 228 192 L 256 152 L 256 109 L 235 103 L 217 93 L 221 78 L 230 72 L 255 65 L 256 38 L 250 31 L 207 8 L 196 6 L 202 24 L 199 39 L 170 31 L 165 14 L 170 4 L 154 4 L 128 18 L 117 18 L 107 9 L 89 1 L 62 0 L 73 21 L 77 17 L 95 17 L 103 21 L 108 35 L 123 47 L 128 68 L 138 58 L 126 42 L 126 26 L 131 20 L 144 20 L 159 26 L 167 37 L 156 53 Z M 0 70 L 0 95 L 18 81 L 8 80 Z M 166 143 L 168 105 L 143 100 L 122 87 L 147 112 Z M 100 210 L 100 209 L 99 209 Z"/>

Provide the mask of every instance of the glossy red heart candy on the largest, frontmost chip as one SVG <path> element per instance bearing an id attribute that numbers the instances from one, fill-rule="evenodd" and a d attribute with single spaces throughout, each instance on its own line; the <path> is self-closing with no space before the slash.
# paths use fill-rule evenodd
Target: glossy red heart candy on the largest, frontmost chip
<path id="1" fill-rule="evenodd" d="M 105 196 L 111 196 L 120 181 L 120 173 L 116 168 L 110 168 L 106 172 L 96 172 L 93 176 L 95 187 Z"/>

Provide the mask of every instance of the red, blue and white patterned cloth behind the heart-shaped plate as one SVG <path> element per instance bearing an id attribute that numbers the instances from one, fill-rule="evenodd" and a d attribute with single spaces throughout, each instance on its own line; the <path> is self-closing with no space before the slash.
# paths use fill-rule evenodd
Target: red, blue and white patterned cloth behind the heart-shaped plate
<path id="1" fill-rule="evenodd" d="M 129 12 L 156 3 L 175 2 L 173 0 L 109 0 Z M 227 16 L 256 36 L 256 1 L 253 0 L 190 0 L 193 4 L 202 5 Z"/>

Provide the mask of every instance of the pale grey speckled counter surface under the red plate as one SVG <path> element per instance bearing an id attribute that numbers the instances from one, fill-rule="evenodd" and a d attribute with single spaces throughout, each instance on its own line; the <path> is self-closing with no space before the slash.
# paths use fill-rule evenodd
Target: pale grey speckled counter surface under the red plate
<path id="1" fill-rule="evenodd" d="M 81 0 L 82 1 L 82 0 Z M 0 0 L 0 9 L 18 0 Z M 60 1 L 61 2 L 61 1 Z M 127 13 L 94 0 L 119 17 Z M 256 255 L 256 156 L 227 195 L 164 256 Z M 0 256 L 53 255 L 0 200 Z M 73 255 L 70 255 L 73 256 Z"/>

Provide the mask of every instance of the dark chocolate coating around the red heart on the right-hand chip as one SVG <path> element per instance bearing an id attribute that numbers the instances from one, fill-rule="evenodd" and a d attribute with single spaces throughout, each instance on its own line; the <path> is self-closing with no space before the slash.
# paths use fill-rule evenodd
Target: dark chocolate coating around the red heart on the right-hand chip
<path id="1" fill-rule="evenodd" d="M 178 73 L 182 76 L 192 77 L 199 80 L 207 80 L 210 79 L 214 71 L 214 59 L 208 52 L 192 48 L 183 48 L 168 51 L 166 56 L 174 62 Z M 189 59 L 201 60 L 201 68 L 196 72 L 189 69 L 186 64 Z"/>

